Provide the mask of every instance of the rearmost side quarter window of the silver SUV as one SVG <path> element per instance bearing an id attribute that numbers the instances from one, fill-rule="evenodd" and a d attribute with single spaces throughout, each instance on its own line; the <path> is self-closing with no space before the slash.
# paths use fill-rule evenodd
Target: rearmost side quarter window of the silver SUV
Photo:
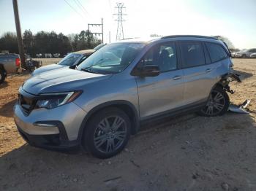
<path id="1" fill-rule="evenodd" d="M 224 50 L 224 48 L 221 45 L 206 42 L 206 47 L 210 54 L 212 63 L 228 58 L 227 52 Z"/>

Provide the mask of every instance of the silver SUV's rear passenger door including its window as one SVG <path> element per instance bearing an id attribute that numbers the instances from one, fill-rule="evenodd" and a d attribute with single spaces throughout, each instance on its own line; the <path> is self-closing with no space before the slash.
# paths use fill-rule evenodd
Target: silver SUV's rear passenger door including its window
<path id="1" fill-rule="evenodd" d="M 184 101 L 200 104 L 207 100 L 216 83 L 216 67 L 206 55 L 203 42 L 180 41 L 181 65 L 184 69 Z"/>

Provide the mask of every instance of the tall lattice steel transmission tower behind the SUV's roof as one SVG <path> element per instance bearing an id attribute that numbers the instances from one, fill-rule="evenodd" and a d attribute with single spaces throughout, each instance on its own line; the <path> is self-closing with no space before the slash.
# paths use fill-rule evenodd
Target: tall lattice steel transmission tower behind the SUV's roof
<path id="1" fill-rule="evenodd" d="M 126 7 L 124 7 L 124 3 L 116 3 L 116 6 L 117 7 L 115 7 L 115 8 L 118 9 L 118 13 L 113 14 L 113 15 L 118 15 L 117 20 L 115 20 L 118 22 L 117 30 L 116 30 L 116 40 L 120 40 L 120 39 L 124 39 L 123 22 L 125 20 L 123 19 L 123 16 L 127 15 L 127 14 L 124 14 L 124 12 L 123 12 L 123 9 L 126 8 Z"/>

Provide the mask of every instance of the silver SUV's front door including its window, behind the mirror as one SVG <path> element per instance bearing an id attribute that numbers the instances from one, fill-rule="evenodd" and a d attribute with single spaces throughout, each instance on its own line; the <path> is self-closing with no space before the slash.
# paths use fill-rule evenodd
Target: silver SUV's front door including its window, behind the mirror
<path id="1" fill-rule="evenodd" d="M 183 105 L 184 75 L 178 66 L 176 44 L 166 42 L 151 47 L 142 60 L 147 65 L 158 65 L 157 77 L 136 77 L 141 120 L 165 114 Z"/>

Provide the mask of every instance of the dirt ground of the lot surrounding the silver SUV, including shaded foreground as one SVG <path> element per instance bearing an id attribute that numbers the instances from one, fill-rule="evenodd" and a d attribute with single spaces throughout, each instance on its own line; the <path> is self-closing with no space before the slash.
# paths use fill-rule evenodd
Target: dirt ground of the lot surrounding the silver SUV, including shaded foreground
<path id="1" fill-rule="evenodd" d="M 108 160 L 26 144 L 12 106 L 29 75 L 8 77 L 0 85 L 0 190 L 256 190 L 256 59 L 233 61 L 244 82 L 232 84 L 230 101 L 250 99 L 250 114 L 146 125 Z"/>

